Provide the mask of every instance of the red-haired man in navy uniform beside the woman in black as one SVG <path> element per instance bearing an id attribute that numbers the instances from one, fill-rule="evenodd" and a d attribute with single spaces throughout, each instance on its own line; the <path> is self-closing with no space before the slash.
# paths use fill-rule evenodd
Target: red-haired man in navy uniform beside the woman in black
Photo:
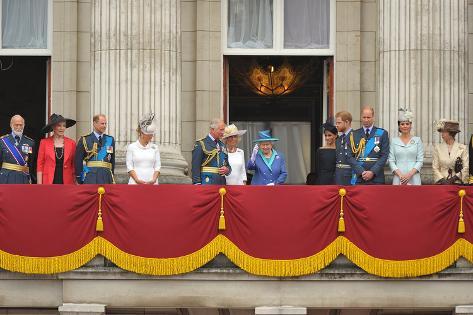
<path id="1" fill-rule="evenodd" d="M 351 122 L 353 118 L 347 111 L 335 114 L 335 126 L 340 133 L 335 141 L 335 184 L 351 185 L 352 170 L 348 163 L 348 156 L 351 155 L 350 135 L 352 132 Z"/>

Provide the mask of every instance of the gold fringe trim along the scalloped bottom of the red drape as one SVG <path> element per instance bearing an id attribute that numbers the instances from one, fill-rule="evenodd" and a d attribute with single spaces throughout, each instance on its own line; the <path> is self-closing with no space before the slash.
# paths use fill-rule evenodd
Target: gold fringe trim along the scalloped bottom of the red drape
<path id="1" fill-rule="evenodd" d="M 241 269 L 261 276 L 294 277 L 315 273 L 345 255 L 367 273 L 390 278 L 418 277 L 437 273 L 460 256 L 473 263 L 473 244 L 461 238 L 445 251 L 427 258 L 386 260 L 373 257 L 344 236 L 337 237 L 320 252 L 304 258 L 277 260 L 253 257 L 240 250 L 223 235 L 216 236 L 201 249 L 175 258 L 146 258 L 128 254 L 102 237 L 94 238 L 81 249 L 63 256 L 26 257 L 0 251 L 0 268 L 22 273 L 53 274 L 77 269 L 100 254 L 118 267 L 148 275 L 175 275 L 202 267 L 219 253 Z"/>

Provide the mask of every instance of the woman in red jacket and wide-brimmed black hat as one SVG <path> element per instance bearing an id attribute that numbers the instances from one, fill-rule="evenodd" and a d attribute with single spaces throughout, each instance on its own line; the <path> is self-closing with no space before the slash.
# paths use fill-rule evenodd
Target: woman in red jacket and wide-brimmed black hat
<path id="1" fill-rule="evenodd" d="M 38 184 L 75 184 L 74 155 L 76 143 L 65 137 L 66 128 L 76 124 L 75 120 L 52 114 L 49 123 L 41 130 L 53 135 L 39 144 L 37 180 Z"/>

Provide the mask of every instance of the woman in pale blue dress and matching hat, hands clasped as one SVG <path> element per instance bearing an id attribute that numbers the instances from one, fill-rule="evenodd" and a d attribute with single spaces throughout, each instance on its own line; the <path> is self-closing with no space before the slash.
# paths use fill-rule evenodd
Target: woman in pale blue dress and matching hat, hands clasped
<path id="1" fill-rule="evenodd" d="M 391 141 L 389 166 L 393 185 L 421 185 L 420 170 L 424 163 L 424 145 L 419 137 L 411 135 L 414 115 L 407 109 L 399 110 L 400 136 Z"/>

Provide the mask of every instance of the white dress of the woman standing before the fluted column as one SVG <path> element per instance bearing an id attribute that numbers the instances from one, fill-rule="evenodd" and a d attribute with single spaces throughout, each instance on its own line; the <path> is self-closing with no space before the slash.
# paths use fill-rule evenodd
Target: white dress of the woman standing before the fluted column
<path id="1" fill-rule="evenodd" d="M 158 145 L 148 143 L 143 146 L 139 141 L 129 144 L 126 150 L 126 168 L 128 172 L 135 171 L 138 179 L 145 182 L 151 181 L 154 172 L 161 170 Z M 130 177 L 128 184 L 136 184 L 136 182 Z M 155 185 L 157 184 L 156 180 Z"/>

